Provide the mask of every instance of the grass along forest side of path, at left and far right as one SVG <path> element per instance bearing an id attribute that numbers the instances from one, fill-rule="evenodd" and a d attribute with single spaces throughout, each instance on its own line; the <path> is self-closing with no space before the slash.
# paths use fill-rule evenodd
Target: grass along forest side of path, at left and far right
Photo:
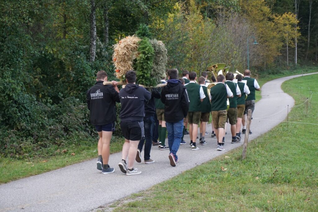
<path id="1" fill-rule="evenodd" d="M 272 79 L 290 76 L 295 74 L 301 74 L 302 72 L 316 72 L 318 71 L 315 67 L 298 69 L 294 71 L 281 71 L 280 73 L 274 74 L 263 74 L 259 76 L 258 82 L 262 86 L 267 81 Z M 260 92 L 256 92 L 256 99 L 259 100 Z M 111 153 L 116 153 L 121 151 L 123 140 L 117 140 L 111 142 Z M 0 184 L 17 180 L 23 177 L 28 177 L 36 174 L 41 174 L 48 172 L 57 168 L 62 168 L 74 163 L 79 163 L 82 161 L 90 160 L 97 157 L 97 140 L 96 144 L 91 144 L 90 146 L 71 146 L 63 147 L 67 149 L 67 152 L 63 154 L 57 154 L 53 157 L 40 157 L 40 158 L 29 158 L 27 160 L 17 160 L 13 158 L 6 158 L 0 156 Z M 56 149 L 58 150 L 58 149 Z M 56 151 L 55 150 L 55 151 Z M 62 148 L 60 149 L 62 151 Z M 75 153 L 74 156 L 71 154 Z"/>

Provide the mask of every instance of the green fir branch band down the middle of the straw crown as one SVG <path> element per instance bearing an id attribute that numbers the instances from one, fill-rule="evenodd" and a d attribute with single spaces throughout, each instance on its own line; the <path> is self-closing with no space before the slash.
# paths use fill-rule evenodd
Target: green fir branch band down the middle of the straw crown
<path id="1" fill-rule="evenodd" d="M 143 38 L 138 46 L 139 56 L 136 62 L 136 75 L 138 84 L 156 86 L 156 78 L 151 76 L 155 52 L 149 38 Z"/>

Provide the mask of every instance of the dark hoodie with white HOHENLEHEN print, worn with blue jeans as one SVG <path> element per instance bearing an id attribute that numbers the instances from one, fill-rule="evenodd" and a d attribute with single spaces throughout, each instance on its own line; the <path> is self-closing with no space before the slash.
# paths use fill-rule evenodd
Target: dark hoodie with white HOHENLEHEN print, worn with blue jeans
<path id="1" fill-rule="evenodd" d="M 169 79 L 162 87 L 161 101 L 164 103 L 164 120 L 178 122 L 187 116 L 189 110 L 188 93 L 178 79 Z"/>

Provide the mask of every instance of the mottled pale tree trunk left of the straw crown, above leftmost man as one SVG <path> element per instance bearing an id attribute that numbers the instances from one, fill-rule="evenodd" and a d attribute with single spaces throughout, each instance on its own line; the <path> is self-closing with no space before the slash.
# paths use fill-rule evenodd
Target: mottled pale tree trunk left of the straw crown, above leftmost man
<path id="1" fill-rule="evenodd" d="M 95 60 L 96 55 L 96 17 L 95 17 L 95 0 L 91 0 L 91 29 L 90 29 L 90 44 L 89 44 L 89 54 L 90 62 Z"/>

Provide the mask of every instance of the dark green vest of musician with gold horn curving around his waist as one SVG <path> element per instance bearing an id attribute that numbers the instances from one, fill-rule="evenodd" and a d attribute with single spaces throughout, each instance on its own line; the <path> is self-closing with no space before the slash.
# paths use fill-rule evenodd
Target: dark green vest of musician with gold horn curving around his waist
<path id="1" fill-rule="evenodd" d="M 217 83 L 210 90 L 211 100 L 211 111 L 220 111 L 227 109 L 227 92 L 226 87 L 223 83 Z"/>

